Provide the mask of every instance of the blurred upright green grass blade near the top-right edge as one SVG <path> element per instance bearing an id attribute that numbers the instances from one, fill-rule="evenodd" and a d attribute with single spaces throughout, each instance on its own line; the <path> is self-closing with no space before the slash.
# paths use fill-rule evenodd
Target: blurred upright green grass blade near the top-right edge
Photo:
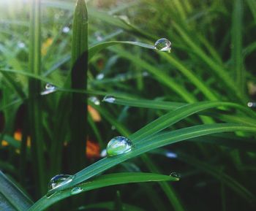
<path id="1" fill-rule="evenodd" d="M 232 45 L 231 56 L 234 69 L 234 80 L 237 88 L 244 95 L 245 92 L 245 75 L 244 61 L 242 56 L 242 39 L 243 39 L 243 5 L 241 0 L 235 0 L 233 4 L 231 39 Z"/>

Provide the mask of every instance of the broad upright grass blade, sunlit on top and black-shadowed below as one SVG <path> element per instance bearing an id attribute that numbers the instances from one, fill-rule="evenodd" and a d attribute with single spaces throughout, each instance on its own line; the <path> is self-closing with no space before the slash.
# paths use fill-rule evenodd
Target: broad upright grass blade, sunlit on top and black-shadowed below
<path id="1" fill-rule="evenodd" d="M 88 14 L 85 0 L 78 0 L 75 7 L 72 34 L 71 88 L 87 89 L 88 71 Z M 76 172 L 86 163 L 84 151 L 87 138 L 86 95 L 72 93 L 70 115 L 71 141 L 69 142 L 69 168 Z"/>

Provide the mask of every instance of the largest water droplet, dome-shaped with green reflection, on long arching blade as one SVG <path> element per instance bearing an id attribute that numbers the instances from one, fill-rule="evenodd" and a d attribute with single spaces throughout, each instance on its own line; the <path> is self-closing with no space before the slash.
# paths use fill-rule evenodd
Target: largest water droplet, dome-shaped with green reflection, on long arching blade
<path id="1" fill-rule="evenodd" d="M 132 150 L 132 141 L 126 137 L 115 137 L 108 142 L 107 154 L 108 156 L 117 156 L 128 153 Z"/>

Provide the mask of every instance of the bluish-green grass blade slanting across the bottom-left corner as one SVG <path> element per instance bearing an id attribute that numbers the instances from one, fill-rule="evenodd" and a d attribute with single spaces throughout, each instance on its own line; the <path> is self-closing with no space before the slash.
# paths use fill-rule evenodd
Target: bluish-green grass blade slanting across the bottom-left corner
<path id="1" fill-rule="evenodd" d="M 4 210 L 26 211 L 33 204 L 33 202 L 31 202 L 31 200 L 1 171 L 0 193 L 0 208 L 3 208 L 3 204 L 6 204 Z"/>

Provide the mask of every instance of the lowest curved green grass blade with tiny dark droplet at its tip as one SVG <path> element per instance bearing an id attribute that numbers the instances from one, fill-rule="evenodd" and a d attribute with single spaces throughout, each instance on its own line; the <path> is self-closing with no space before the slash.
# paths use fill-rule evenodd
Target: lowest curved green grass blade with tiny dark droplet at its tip
<path id="1" fill-rule="evenodd" d="M 90 180 L 87 183 L 80 183 L 75 187 L 81 188 L 81 192 L 91 191 L 97 188 L 103 188 L 110 185 L 120 185 L 127 183 L 144 183 L 144 182 L 157 182 L 157 181 L 178 181 L 176 177 L 171 177 L 162 174 L 152 173 L 116 173 L 116 174 L 105 174 L 95 177 L 94 180 Z M 55 193 L 52 196 L 44 196 L 37 203 L 35 203 L 29 211 L 41 211 L 45 210 L 51 204 L 58 202 L 61 199 L 65 199 L 72 196 L 72 187 Z"/>

